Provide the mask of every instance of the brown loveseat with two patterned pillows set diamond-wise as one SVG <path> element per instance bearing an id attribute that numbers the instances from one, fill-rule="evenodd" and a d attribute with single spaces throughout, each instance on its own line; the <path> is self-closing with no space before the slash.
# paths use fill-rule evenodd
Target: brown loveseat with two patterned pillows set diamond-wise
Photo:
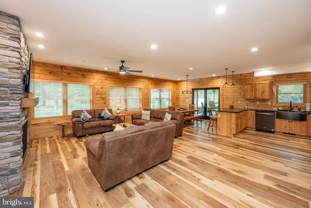
<path id="1" fill-rule="evenodd" d="M 119 123 L 120 115 L 111 115 L 107 120 L 103 120 L 103 118 L 98 114 L 103 110 L 104 109 L 86 110 L 86 112 L 92 116 L 92 118 L 90 118 L 87 122 L 84 122 L 81 118 L 77 118 L 82 110 L 72 111 L 72 132 L 77 137 L 80 137 L 87 134 L 113 131 L 112 124 Z M 111 109 L 107 110 L 112 114 Z"/>

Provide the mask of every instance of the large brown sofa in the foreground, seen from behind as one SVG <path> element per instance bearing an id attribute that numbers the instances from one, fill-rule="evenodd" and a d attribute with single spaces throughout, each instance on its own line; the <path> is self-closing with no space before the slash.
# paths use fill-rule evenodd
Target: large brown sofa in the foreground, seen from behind
<path id="1" fill-rule="evenodd" d="M 85 141 L 88 167 L 105 191 L 163 161 L 173 152 L 175 125 L 148 123 Z"/>

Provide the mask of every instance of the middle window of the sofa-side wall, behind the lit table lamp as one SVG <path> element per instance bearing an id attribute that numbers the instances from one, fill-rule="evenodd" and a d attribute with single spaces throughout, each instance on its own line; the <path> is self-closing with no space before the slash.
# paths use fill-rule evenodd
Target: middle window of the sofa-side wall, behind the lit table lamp
<path id="1" fill-rule="evenodd" d="M 138 87 L 109 86 L 109 104 L 116 110 L 116 103 L 121 103 L 120 110 L 135 111 L 141 109 L 141 89 Z"/>

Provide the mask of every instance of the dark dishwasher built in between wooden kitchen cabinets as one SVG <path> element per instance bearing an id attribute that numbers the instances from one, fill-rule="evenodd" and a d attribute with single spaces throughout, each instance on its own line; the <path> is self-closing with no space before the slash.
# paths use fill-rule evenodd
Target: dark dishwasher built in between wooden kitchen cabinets
<path id="1" fill-rule="evenodd" d="M 274 111 L 256 110 L 256 130 L 265 132 L 274 131 Z"/>

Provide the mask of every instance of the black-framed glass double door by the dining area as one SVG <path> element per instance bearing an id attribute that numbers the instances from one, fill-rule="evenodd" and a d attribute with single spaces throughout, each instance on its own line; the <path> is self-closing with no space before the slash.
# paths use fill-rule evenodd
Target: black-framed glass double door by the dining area
<path id="1" fill-rule="evenodd" d="M 209 119 L 208 110 L 219 110 L 219 87 L 193 89 L 193 101 L 195 109 L 202 114 L 203 119 Z"/>

